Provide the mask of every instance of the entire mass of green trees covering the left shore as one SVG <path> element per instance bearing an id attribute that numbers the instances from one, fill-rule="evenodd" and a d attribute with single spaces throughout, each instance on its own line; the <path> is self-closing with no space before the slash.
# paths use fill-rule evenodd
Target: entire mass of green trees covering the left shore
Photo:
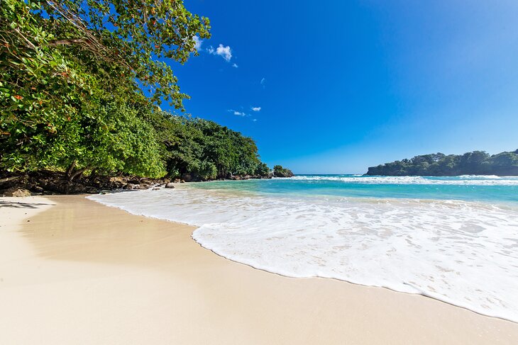
<path id="1" fill-rule="evenodd" d="M 250 137 L 182 113 L 169 62 L 209 30 L 178 0 L 1 1 L 0 174 L 271 176 Z"/>

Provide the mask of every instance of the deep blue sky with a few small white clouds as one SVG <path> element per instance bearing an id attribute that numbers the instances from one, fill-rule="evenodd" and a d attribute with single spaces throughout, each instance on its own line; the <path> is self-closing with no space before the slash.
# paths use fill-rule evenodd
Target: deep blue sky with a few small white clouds
<path id="1" fill-rule="evenodd" d="M 187 112 L 253 137 L 270 166 L 364 173 L 518 148 L 516 0 L 185 5 L 212 26 L 174 66 Z"/>

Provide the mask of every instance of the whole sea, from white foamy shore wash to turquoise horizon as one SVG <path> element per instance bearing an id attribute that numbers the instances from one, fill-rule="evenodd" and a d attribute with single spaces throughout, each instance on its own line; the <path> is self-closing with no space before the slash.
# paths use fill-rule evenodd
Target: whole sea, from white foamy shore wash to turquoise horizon
<path id="1" fill-rule="evenodd" d="M 307 175 L 90 198 L 196 225 L 202 247 L 265 271 L 518 322 L 518 177 Z"/>

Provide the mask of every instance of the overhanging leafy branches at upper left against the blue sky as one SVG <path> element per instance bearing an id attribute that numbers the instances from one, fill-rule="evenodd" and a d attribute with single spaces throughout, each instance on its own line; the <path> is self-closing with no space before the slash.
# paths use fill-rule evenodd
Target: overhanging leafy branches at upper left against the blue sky
<path id="1" fill-rule="evenodd" d="M 53 35 L 48 45 L 87 62 L 90 71 L 109 81 L 108 85 L 145 91 L 150 101 L 170 101 L 175 108 L 183 108 L 182 100 L 189 96 L 180 93 L 177 78 L 164 60 L 184 64 L 192 52 L 197 55 L 195 37 L 210 37 L 209 19 L 187 11 L 182 0 L 40 4 L 36 18 Z"/>

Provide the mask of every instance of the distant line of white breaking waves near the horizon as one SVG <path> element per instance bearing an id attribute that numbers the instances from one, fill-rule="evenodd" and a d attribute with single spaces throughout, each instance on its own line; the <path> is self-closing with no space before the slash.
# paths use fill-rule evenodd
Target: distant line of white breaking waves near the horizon
<path id="1" fill-rule="evenodd" d="M 458 179 L 456 179 L 458 178 Z M 461 186 L 518 186 L 518 176 L 463 175 L 456 178 L 434 178 L 431 176 L 314 176 L 297 175 L 290 179 L 300 181 L 341 181 L 365 184 L 431 184 Z"/>

